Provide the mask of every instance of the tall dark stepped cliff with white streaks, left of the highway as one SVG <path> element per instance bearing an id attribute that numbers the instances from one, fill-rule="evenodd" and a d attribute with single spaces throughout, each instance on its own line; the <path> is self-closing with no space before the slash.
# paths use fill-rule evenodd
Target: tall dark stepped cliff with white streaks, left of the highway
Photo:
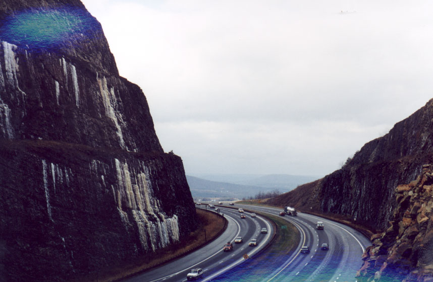
<path id="1" fill-rule="evenodd" d="M 29 15 L 91 30 L 14 37 Z M 0 281 L 80 280 L 195 229 L 182 160 L 80 1 L 6 0 L 0 39 Z"/>

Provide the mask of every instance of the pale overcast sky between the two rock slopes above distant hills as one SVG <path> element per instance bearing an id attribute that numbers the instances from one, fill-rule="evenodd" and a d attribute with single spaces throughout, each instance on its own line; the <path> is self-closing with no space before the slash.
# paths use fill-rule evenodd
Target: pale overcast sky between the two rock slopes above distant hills
<path id="1" fill-rule="evenodd" d="M 82 2 L 187 174 L 323 176 L 432 98 L 431 1 Z"/>

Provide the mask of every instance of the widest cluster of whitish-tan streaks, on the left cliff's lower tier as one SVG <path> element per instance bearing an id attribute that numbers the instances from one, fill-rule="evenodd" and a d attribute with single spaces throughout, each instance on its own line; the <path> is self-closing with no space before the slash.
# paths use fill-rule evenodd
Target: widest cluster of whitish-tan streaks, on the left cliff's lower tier
<path id="1" fill-rule="evenodd" d="M 141 163 L 138 169 L 130 171 L 127 163 L 121 163 L 117 159 L 115 163 L 119 212 L 124 212 L 121 204 L 123 201 L 127 205 L 127 211 L 131 210 L 137 224 L 142 247 L 154 251 L 167 246 L 170 242 L 179 241 L 178 217 L 167 217 L 161 211 L 160 202 L 153 195 L 150 169 Z M 121 214 L 122 216 L 125 215 Z M 123 218 L 122 221 L 125 224 Z"/>

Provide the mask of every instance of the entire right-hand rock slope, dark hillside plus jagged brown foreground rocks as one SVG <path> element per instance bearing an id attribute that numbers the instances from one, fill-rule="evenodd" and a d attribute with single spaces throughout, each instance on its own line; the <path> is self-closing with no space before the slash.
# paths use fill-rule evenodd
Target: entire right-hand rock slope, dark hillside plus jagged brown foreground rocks
<path id="1" fill-rule="evenodd" d="M 371 237 L 360 281 L 433 281 L 431 168 L 417 178 L 422 165 L 433 162 L 431 128 L 433 99 L 365 144 L 340 170 L 268 203 L 385 231 Z"/>

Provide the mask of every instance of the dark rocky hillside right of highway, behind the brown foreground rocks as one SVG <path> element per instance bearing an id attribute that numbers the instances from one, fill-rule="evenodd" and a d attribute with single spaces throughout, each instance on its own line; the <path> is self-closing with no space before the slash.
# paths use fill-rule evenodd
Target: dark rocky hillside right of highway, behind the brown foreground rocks
<path id="1" fill-rule="evenodd" d="M 433 161 L 431 128 L 433 100 L 395 124 L 388 134 L 365 144 L 340 170 L 270 203 L 356 218 L 373 231 L 385 230 L 397 205 L 395 187 L 414 180 L 421 166 Z"/>

